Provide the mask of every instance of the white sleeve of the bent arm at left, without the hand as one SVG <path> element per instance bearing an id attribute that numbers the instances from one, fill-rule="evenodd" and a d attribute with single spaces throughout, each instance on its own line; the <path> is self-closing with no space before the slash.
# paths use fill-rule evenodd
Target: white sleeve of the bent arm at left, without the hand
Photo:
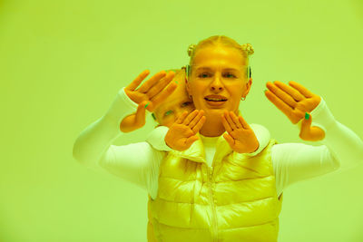
<path id="1" fill-rule="evenodd" d="M 74 142 L 74 159 L 90 169 L 128 180 L 143 189 L 152 188 L 152 172 L 164 154 L 154 150 L 146 142 L 123 146 L 112 145 L 113 140 L 123 136 L 120 123 L 135 112 L 137 104 L 120 90 L 109 110 L 97 121 L 86 127 Z"/>

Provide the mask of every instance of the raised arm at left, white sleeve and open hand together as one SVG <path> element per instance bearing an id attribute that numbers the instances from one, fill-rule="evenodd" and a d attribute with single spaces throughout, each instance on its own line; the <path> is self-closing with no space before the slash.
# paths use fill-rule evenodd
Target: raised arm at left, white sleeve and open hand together
<path id="1" fill-rule="evenodd" d="M 123 179 L 144 185 L 147 169 L 151 168 L 152 161 L 162 159 L 162 153 L 152 150 L 146 142 L 127 146 L 114 146 L 112 142 L 122 135 L 123 130 L 134 131 L 143 126 L 142 117 L 144 119 L 146 109 L 143 103 L 149 103 L 148 110 L 152 111 L 175 90 L 176 84 L 168 85 L 174 76 L 172 72 L 156 73 L 138 88 L 148 73 L 142 72 L 131 84 L 120 90 L 103 117 L 81 132 L 74 142 L 75 160 L 91 169 L 102 167 Z M 136 108 L 136 114 L 132 114 Z M 126 116 L 134 118 L 123 122 Z"/>

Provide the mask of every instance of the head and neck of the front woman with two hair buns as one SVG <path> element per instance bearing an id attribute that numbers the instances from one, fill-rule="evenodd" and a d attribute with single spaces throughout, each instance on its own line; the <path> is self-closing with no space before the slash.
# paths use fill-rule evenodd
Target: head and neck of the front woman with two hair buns
<path id="1" fill-rule="evenodd" d="M 201 128 L 205 136 L 220 136 L 224 111 L 238 114 L 240 99 L 250 92 L 250 44 L 240 45 L 226 36 L 211 36 L 188 49 L 191 56 L 187 90 L 196 109 L 207 118 Z"/>

